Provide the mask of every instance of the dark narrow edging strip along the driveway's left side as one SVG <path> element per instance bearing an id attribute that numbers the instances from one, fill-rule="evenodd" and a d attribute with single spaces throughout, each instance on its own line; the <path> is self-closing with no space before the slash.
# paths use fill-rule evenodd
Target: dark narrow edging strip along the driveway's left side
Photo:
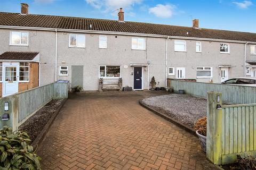
<path id="1" fill-rule="evenodd" d="M 49 131 L 53 121 L 59 114 L 60 109 L 62 108 L 62 106 L 65 104 L 66 101 L 67 101 L 67 99 L 63 99 L 62 103 L 57 107 L 56 111 L 53 113 L 50 120 L 46 123 L 46 125 L 44 126 L 42 131 L 37 135 L 36 139 L 31 143 L 31 145 L 34 148 L 38 147 L 41 144 L 41 142 L 44 140 L 46 133 Z"/>

